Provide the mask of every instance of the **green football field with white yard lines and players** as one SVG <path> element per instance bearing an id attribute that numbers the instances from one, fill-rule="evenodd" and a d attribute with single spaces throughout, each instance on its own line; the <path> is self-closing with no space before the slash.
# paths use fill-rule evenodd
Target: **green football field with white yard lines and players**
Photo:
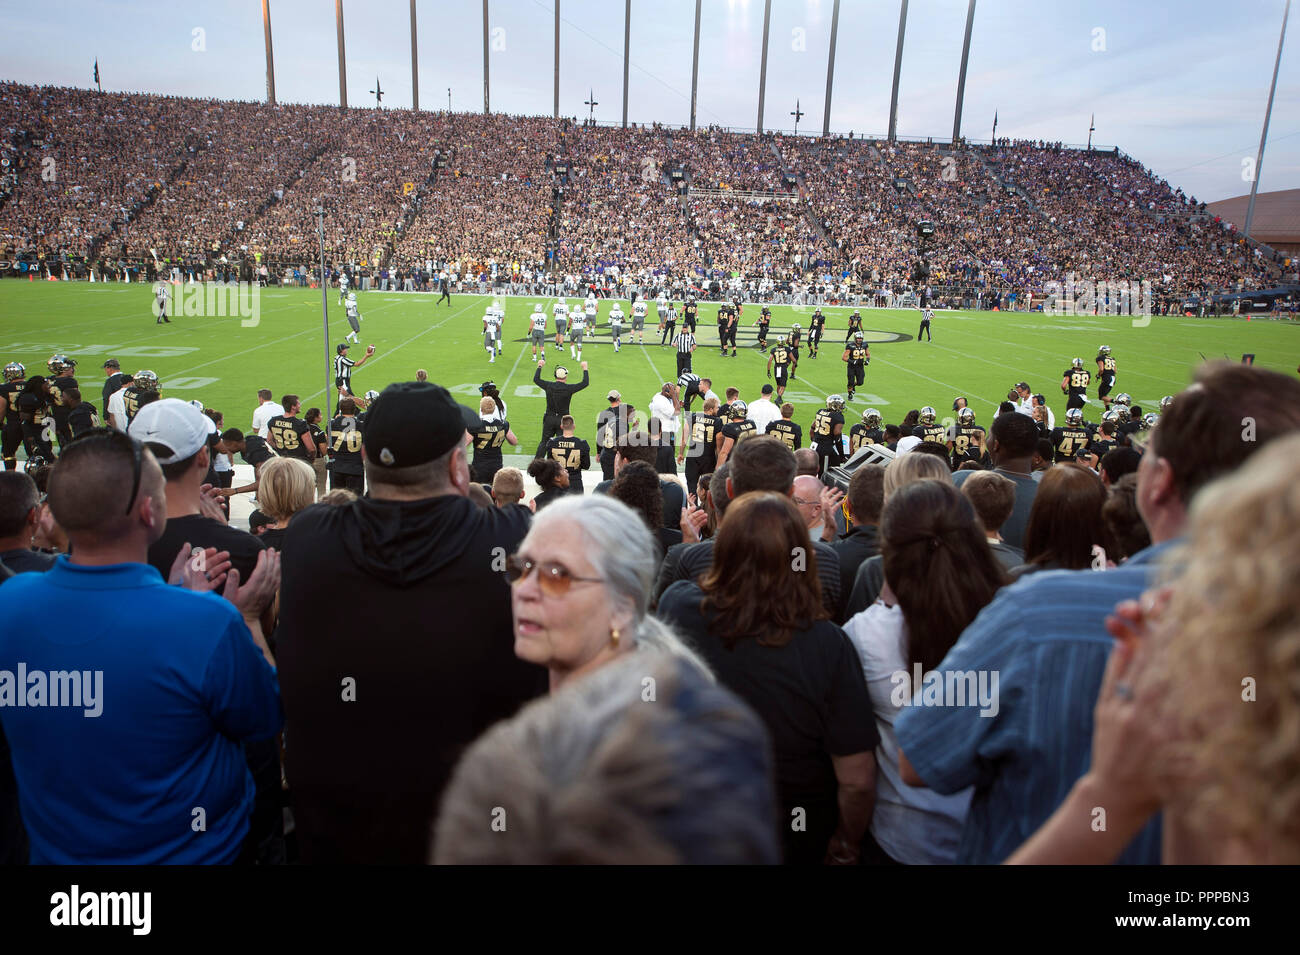
<path id="1" fill-rule="evenodd" d="M 429 378 L 447 386 L 465 404 L 476 405 L 478 386 L 493 379 L 510 412 L 520 451 L 536 447 L 541 434 L 543 399 L 533 385 L 534 364 L 525 342 L 528 314 L 543 303 L 547 314 L 554 299 L 508 298 L 503 330 L 504 351 L 489 364 L 482 348 L 482 313 L 491 296 L 454 295 L 451 305 L 434 305 L 436 296 L 412 292 L 358 294 L 361 342 L 376 355 L 354 374 L 358 392 L 382 390 L 394 381 L 415 378 L 424 368 Z M 569 304 L 575 299 L 568 299 Z M 170 325 L 155 324 L 152 291 L 147 285 L 86 285 L 52 282 L 0 282 L 0 361 L 21 361 L 27 374 L 44 374 L 46 360 L 65 352 L 78 361 L 78 378 L 87 400 L 100 403 L 101 365 L 114 357 L 126 372 L 156 372 L 166 396 L 199 399 L 224 412 L 228 426 L 247 429 L 256 391 L 270 388 L 277 400 L 298 394 L 303 407 L 321 407 L 326 388 L 326 347 L 322 340 L 321 294 L 307 288 L 260 291 L 256 324 L 239 317 L 177 314 Z M 178 303 L 183 308 L 182 299 Z M 628 303 L 624 312 L 630 314 Z M 177 311 L 181 311 L 179 308 Z M 660 347 L 658 318 L 650 303 L 646 344 L 610 344 L 610 303 L 601 301 L 599 329 L 588 335 L 584 359 L 590 363 L 592 385 L 573 399 L 580 437 L 592 438 L 595 417 L 607 405 L 610 388 L 623 392 L 645 412 L 664 381 L 676 378 L 671 347 Z M 723 395 L 740 388 L 745 400 L 759 396 L 767 381 L 767 356 L 755 344 L 758 305 L 746 305 L 738 334 L 740 355 L 722 357 L 714 324 L 716 304 L 702 303 L 699 348 L 694 370 L 714 381 Z M 806 346 L 797 381 L 785 399 L 794 418 L 807 427 L 829 394 L 844 394 L 844 347 L 848 308 L 824 308 L 827 340 L 820 356 L 807 356 Z M 774 305 L 772 338 L 790 322 L 806 330 L 811 308 Z M 1115 394 L 1127 391 L 1143 408 L 1154 409 L 1162 395 L 1184 387 L 1205 359 L 1240 361 L 1254 353 L 1256 364 L 1295 374 L 1300 365 L 1300 327 L 1292 322 L 1245 318 L 1206 320 L 1154 317 L 1053 317 L 1041 313 L 944 312 L 935 314 L 933 342 L 916 342 L 919 313 L 910 309 L 863 309 L 863 327 L 871 344 L 866 386 L 846 409 L 852 424 L 866 408 L 897 422 L 910 408 L 933 405 L 940 417 L 950 414 L 953 399 L 965 395 L 978 421 L 988 424 L 997 403 L 1018 381 L 1048 396 L 1057 417 L 1065 411 L 1060 382 L 1071 357 L 1082 357 L 1089 370 L 1097 347 L 1109 344 L 1118 361 Z M 1138 326 L 1135 326 L 1135 321 Z M 630 321 L 624 326 L 628 329 Z M 334 346 L 347 334 L 338 291 L 329 291 L 330 360 Z M 581 379 L 577 363 L 554 347 L 554 325 L 547 322 L 545 377 L 556 364 L 569 368 L 569 381 Z M 352 347 L 360 359 L 364 348 Z M 329 381 L 333 392 L 333 379 Z M 1096 395 L 1096 382 L 1089 396 Z M 698 409 L 698 405 L 696 405 Z M 1086 411 L 1096 420 L 1100 405 Z M 642 416 L 642 421 L 645 417 Z"/>

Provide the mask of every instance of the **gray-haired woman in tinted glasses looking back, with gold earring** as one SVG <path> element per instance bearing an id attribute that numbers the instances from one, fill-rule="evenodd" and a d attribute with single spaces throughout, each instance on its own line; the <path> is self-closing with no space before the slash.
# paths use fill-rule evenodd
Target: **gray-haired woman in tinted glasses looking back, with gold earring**
<path id="1" fill-rule="evenodd" d="M 564 498 L 538 512 L 507 559 L 515 655 L 550 672 L 554 693 L 628 652 L 671 654 L 708 667 L 646 615 L 659 561 L 632 508 L 604 496 Z"/>

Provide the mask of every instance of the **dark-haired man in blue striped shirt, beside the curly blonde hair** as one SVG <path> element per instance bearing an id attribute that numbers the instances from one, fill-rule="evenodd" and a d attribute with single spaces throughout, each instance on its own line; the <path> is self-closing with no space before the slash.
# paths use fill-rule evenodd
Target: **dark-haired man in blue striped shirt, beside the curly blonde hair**
<path id="1" fill-rule="evenodd" d="M 1253 442 L 1242 440 L 1243 417 L 1254 420 Z M 958 861 L 1001 863 L 1066 798 L 1089 764 L 1092 711 L 1112 647 L 1106 615 L 1154 582 L 1152 570 L 1183 535 L 1205 485 L 1297 429 L 1300 382 L 1247 365 L 1202 366 L 1161 416 L 1141 457 L 1138 507 L 1152 546 L 1105 573 L 1031 574 L 966 628 L 939 672 L 946 680 L 997 670 L 1002 699 L 1024 703 L 992 717 L 970 707 L 913 707 L 896 724 L 904 780 L 937 793 L 975 786 Z M 1044 726 L 1057 732 L 1040 742 Z M 1119 861 L 1157 863 L 1160 841 L 1153 820 Z"/>

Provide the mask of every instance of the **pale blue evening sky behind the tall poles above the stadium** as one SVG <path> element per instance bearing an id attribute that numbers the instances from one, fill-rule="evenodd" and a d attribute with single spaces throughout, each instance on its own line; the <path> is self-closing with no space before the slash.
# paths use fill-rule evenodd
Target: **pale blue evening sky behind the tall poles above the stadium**
<path id="1" fill-rule="evenodd" d="M 621 121 L 624 4 L 560 1 L 560 113 Z M 550 116 L 555 0 L 489 0 L 490 105 Z M 1087 142 L 1202 201 L 1251 188 L 1286 0 L 978 0 L 962 112 L 970 139 Z M 338 103 L 334 3 L 269 0 L 276 96 Z M 764 129 L 818 133 L 833 0 L 772 0 Z M 898 135 L 953 129 L 966 0 L 910 0 Z M 829 126 L 884 135 L 900 0 L 842 0 Z M 1282 53 L 1260 191 L 1300 188 L 1300 6 Z M 411 108 L 407 0 L 343 0 L 350 105 Z M 0 79 L 260 100 L 260 0 L 0 0 Z M 417 0 L 420 105 L 484 108 L 482 5 Z M 694 0 L 632 0 L 629 122 L 690 120 Z M 703 0 L 697 122 L 754 129 L 763 0 Z"/>

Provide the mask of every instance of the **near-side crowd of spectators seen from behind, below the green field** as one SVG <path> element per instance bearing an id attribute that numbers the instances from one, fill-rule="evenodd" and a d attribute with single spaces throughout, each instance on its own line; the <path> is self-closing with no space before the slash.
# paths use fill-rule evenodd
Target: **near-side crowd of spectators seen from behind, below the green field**
<path id="1" fill-rule="evenodd" d="M 57 442 L 44 378 L 0 391 L 0 860 L 1300 861 L 1294 377 L 1210 363 L 1069 447 L 1027 383 L 958 431 L 828 401 L 814 450 L 770 386 L 576 422 L 584 368 L 530 495 L 490 388 L 324 422 L 104 374 Z"/>

